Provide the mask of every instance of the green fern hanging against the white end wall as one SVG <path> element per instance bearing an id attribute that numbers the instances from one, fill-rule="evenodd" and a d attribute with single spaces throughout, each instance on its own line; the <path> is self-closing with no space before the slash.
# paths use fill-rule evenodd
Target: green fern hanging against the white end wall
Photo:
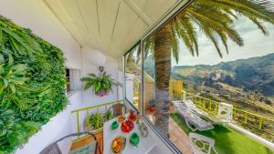
<path id="1" fill-rule="evenodd" d="M 100 76 L 89 74 L 88 77 L 82 77 L 81 81 L 85 83 L 84 90 L 93 87 L 94 93 L 99 97 L 107 96 L 112 91 L 113 80 L 110 75 L 103 72 Z"/>

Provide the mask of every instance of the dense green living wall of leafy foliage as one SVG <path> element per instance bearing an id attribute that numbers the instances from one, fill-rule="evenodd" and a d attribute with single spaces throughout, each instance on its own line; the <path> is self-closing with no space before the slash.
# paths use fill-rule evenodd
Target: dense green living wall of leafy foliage
<path id="1" fill-rule="evenodd" d="M 64 62 L 58 47 L 0 15 L 0 154 L 24 145 L 65 108 Z"/>

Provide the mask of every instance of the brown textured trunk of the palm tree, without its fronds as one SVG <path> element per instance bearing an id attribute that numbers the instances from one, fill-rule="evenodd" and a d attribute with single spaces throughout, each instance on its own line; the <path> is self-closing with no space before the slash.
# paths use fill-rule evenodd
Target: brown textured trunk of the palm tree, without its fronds
<path id="1" fill-rule="evenodd" d="M 155 125 L 163 133 L 168 134 L 169 122 L 169 80 L 171 74 L 171 28 L 163 26 L 154 36 L 155 60 Z"/>

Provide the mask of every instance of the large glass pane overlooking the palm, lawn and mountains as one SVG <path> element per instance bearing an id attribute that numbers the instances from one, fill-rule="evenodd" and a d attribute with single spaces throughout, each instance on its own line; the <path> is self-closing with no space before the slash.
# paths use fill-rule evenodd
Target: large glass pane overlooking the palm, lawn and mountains
<path id="1" fill-rule="evenodd" d="M 183 153 L 273 152 L 237 130 L 274 140 L 273 5 L 196 0 L 144 40 L 144 114 Z"/>

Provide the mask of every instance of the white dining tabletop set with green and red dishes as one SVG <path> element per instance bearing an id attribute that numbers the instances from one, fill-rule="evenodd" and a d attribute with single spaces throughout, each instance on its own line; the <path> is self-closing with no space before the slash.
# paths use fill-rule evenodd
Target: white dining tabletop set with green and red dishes
<path id="1" fill-rule="evenodd" d="M 119 127 L 111 130 L 111 123 L 118 118 L 113 118 L 104 123 L 103 126 L 103 152 L 104 154 L 112 154 L 111 150 L 111 142 L 113 139 L 121 136 L 127 139 L 125 148 L 122 150 L 122 154 L 147 154 L 149 153 L 155 146 L 156 143 L 153 140 L 152 136 L 150 135 L 151 132 L 148 133 L 146 138 L 142 138 L 140 130 L 136 122 L 134 122 L 134 128 L 130 133 L 124 133 L 121 131 L 121 123 L 119 123 Z M 140 136 L 140 142 L 138 146 L 132 146 L 130 144 L 130 136 L 132 133 L 136 132 Z"/>

